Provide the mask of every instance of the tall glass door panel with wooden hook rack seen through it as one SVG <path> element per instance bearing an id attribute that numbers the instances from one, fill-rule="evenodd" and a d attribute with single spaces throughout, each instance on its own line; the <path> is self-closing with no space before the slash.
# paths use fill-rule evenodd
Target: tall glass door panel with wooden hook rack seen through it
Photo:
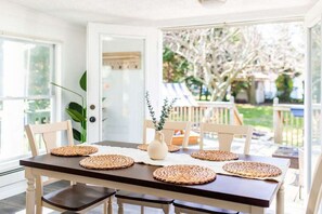
<path id="1" fill-rule="evenodd" d="M 102 37 L 102 141 L 142 142 L 144 39 Z"/>

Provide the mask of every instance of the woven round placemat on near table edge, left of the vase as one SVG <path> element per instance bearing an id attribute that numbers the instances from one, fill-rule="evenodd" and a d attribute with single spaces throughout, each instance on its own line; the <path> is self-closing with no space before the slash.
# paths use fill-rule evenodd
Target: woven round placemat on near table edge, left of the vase
<path id="1" fill-rule="evenodd" d="M 91 170 L 117 170 L 133 165 L 134 160 L 120 155 L 101 155 L 85 158 L 79 164 Z"/>

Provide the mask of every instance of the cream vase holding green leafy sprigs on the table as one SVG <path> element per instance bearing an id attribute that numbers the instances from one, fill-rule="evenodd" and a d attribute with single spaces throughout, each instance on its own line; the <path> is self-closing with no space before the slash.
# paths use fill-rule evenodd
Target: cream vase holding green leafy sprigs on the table
<path id="1" fill-rule="evenodd" d="M 151 105 L 149 92 L 146 92 L 145 94 L 145 99 L 155 129 L 154 139 L 147 146 L 147 155 L 151 159 L 163 160 L 168 153 L 168 146 L 164 141 L 164 134 L 162 133 L 162 130 L 164 129 L 164 124 L 170 115 L 176 98 L 173 98 L 171 102 L 169 102 L 168 98 L 164 99 L 158 121 L 156 120 L 155 111 L 153 109 L 153 106 Z"/>

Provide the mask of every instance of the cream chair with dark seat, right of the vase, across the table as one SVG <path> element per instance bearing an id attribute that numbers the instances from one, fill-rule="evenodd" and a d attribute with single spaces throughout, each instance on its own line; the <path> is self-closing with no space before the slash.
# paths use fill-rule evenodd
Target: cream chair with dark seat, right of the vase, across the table
<path id="1" fill-rule="evenodd" d="M 253 135 L 253 128 L 247 125 L 227 125 L 227 124 L 214 124 L 214 123 L 202 123 L 201 124 L 201 142 L 199 149 L 204 149 L 204 134 L 205 132 L 215 132 L 218 136 L 219 150 L 230 151 L 231 144 L 234 135 L 245 135 L 245 146 L 244 153 L 249 153 L 250 141 Z M 239 213 L 236 211 L 229 211 L 223 209 L 218 209 L 209 205 L 202 205 L 197 203 L 190 203 L 185 201 L 173 201 L 175 213 L 191 213 L 191 214 L 202 214 L 202 213 Z"/>

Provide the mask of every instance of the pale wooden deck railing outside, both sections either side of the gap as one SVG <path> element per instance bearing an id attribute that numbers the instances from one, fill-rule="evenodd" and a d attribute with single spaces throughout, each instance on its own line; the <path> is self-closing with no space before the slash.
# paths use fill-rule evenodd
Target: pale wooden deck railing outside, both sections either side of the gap
<path id="1" fill-rule="evenodd" d="M 239 113 L 233 97 L 230 102 L 198 102 L 197 104 L 198 106 L 173 107 L 169 120 L 191 121 L 196 130 L 198 130 L 201 122 L 243 124 L 243 116 Z M 302 105 L 279 104 L 279 99 L 274 99 L 274 143 L 293 147 L 302 146 L 304 117 L 300 113 L 293 112 L 294 110 L 301 110 L 302 112 Z M 313 112 L 320 113 L 320 111 Z M 317 125 L 320 125 L 318 123 Z"/>

